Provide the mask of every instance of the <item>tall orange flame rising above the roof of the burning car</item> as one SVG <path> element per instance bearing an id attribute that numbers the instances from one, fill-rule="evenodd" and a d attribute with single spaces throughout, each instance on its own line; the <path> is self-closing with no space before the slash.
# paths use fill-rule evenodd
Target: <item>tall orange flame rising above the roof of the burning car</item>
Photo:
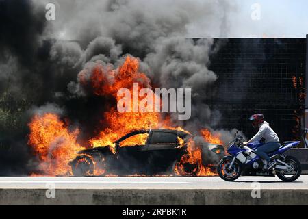
<path id="1" fill-rule="evenodd" d="M 96 66 L 90 77 L 90 81 L 84 81 L 84 85 L 87 86 L 90 83 L 95 94 L 102 96 L 112 95 L 118 101 L 120 97 L 117 96 L 117 92 L 120 88 L 127 88 L 132 92 L 133 83 L 138 83 L 138 91 L 142 88 L 151 88 L 150 79 L 144 73 L 140 73 L 138 69 L 138 59 L 127 56 L 123 65 L 116 70 Z M 108 83 L 108 80 L 111 83 Z M 138 96 L 138 99 L 140 101 L 141 98 Z M 136 106 L 136 104 L 138 103 L 131 102 L 131 109 L 133 107 L 139 108 L 139 105 Z M 159 125 L 162 125 L 159 113 L 146 112 L 146 110 L 145 112 L 120 113 L 115 108 L 112 108 L 110 112 L 103 114 L 103 118 L 104 123 L 107 123 L 108 126 L 100 131 L 99 136 L 90 140 L 90 143 L 94 147 L 114 146 L 112 142 L 124 136 L 126 133 L 138 129 L 155 129 Z M 134 140 L 136 141 L 136 139 Z M 142 142 L 142 140 L 143 138 L 140 136 L 138 142 Z"/>

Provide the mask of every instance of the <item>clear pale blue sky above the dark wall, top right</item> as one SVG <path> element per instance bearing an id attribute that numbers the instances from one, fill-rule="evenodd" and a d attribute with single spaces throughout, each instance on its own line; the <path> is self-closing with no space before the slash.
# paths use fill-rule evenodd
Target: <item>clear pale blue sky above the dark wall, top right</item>
<path id="1" fill-rule="evenodd" d="M 308 34 L 308 1 L 236 0 L 238 13 L 231 17 L 231 36 L 305 38 Z M 259 4 L 260 20 L 251 19 L 253 4 Z"/>

